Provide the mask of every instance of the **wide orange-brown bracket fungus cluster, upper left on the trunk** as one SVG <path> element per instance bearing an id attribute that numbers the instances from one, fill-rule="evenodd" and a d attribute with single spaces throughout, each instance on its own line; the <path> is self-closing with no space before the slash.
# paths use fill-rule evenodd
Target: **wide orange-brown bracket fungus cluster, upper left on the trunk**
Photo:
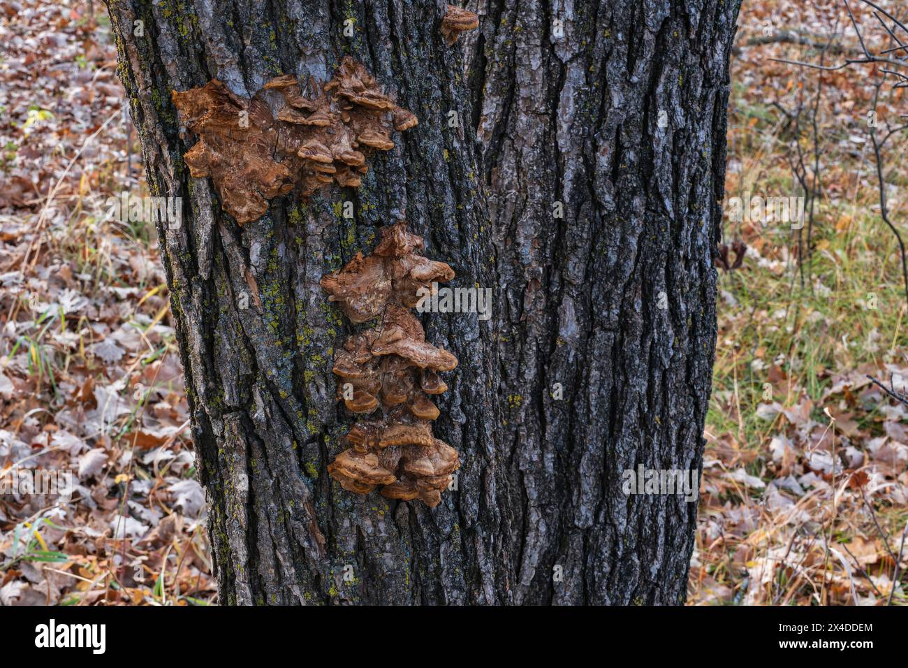
<path id="1" fill-rule="evenodd" d="M 199 137 L 183 155 L 189 172 L 212 178 L 237 223 L 262 217 L 268 200 L 294 188 L 308 197 L 331 183 L 359 187 L 369 155 L 390 151 L 393 131 L 417 125 L 350 56 L 331 81 L 311 87 L 303 95 L 296 77 L 283 75 L 252 98 L 217 79 L 173 91 L 181 122 Z"/>

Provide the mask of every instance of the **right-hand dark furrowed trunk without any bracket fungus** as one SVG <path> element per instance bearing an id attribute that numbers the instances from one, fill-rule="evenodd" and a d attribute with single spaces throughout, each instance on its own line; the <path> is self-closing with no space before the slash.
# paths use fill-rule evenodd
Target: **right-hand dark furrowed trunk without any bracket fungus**
<path id="1" fill-rule="evenodd" d="M 554 5 L 470 4 L 511 601 L 680 603 L 696 503 L 628 497 L 622 472 L 702 471 L 740 2 Z"/>

